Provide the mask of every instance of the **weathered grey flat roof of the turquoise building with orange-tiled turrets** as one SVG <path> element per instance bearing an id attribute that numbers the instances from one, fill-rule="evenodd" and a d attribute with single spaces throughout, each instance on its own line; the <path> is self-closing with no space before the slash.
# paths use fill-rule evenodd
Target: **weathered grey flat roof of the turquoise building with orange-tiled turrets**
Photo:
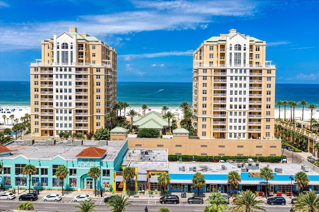
<path id="1" fill-rule="evenodd" d="M 29 159 L 51 159 L 61 156 L 67 160 L 76 160 L 76 155 L 83 149 L 95 146 L 107 150 L 107 156 L 104 160 L 114 160 L 125 141 L 108 141 L 108 145 L 99 145 L 99 141 L 83 141 L 83 145 L 74 145 L 67 140 L 56 141 L 55 145 L 46 144 L 45 141 L 34 141 L 34 144 L 24 144 L 23 140 L 15 140 L 6 145 L 11 149 L 10 156 L 4 156 L 5 159 L 14 159 L 18 155 L 23 155 Z"/>

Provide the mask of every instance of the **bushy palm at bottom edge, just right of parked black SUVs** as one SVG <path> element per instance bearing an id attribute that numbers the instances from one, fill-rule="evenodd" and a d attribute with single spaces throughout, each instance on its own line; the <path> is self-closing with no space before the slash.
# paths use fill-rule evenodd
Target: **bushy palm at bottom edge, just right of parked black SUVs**
<path id="1" fill-rule="evenodd" d="M 210 205 L 205 206 L 204 212 L 223 212 L 227 210 L 227 200 L 221 197 L 220 192 L 210 193 L 206 200 Z"/>

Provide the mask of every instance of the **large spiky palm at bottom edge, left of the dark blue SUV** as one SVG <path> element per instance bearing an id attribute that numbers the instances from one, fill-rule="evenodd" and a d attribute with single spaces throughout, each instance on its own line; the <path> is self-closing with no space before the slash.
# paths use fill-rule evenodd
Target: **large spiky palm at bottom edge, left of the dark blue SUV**
<path id="1" fill-rule="evenodd" d="M 256 200 L 255 194 L 250 190 L 247 190 L 241 197 L 233 202 L 234 208 L 231 208 L 232 212 L 258 212 L 256 210 L 266 211 L 264 206 L 259 206 L 259 204 L 264 203 L 262 200 Z"/>

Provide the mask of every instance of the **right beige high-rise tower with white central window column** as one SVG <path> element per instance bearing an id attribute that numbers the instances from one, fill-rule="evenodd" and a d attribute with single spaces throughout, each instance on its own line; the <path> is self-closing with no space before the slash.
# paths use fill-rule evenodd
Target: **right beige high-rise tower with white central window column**
<path id="1" fill-rule="evenodd" d="M 193 54 L 194 126 L 201 139 L 273 139 L 276 68 L 266 42 L 230 29 Z"/>

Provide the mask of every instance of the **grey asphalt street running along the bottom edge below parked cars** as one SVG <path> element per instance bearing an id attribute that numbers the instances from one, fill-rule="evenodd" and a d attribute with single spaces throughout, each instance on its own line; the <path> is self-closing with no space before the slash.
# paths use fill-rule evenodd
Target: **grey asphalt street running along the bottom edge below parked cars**
<path id="1" fill-rule="evenodd" d="M 60 202 L 43 202 L 42 200 L 37 200 L 32 202 L 34 209 L 36 211 L 41 212 L 75 212 L 77 208 L 75 206 L 79 205 L 79 203 L 72 202 L 72 199 L 62 199 Z M 94 200 L 94 199 L 93 199 Z M 105 212 L 111 211 L 111 207 L 108 209 L 103 201 L 95 201 L 95 210 L 97 212 Z M 289 201 L 289 200 L 288 200 Z M 10 201 L 0 201 L 0 211 L 9 211 L 17 209 L 17 206 L 20 205 L 22 201 L 17 199 Z M 126 212 L 144 212 L 145 207 L 148 208 L 149 212 L 157 212 L 161 207 L 168 208 L 171 212 L 202 212 L 204 207 L 208 205 L 208 203 L 200 204 L 187 204 L 185 202 L 181 202 L 180 204 L 170 205 L 170 204 L 160 204 L 157 200 L 131 200 L 130 203 L 133 206 L 128 206 L 126 208 Z M 262 204 L 266 207 L 267 212 L 289 212 L 291 209 L 291 204 L 287 202 L 285 206 L 270 206 L 266 203 Z M 231 205 L 229 205 L 231 206 Z M 227 210 L 229 212 L 229 210 Z"/>

